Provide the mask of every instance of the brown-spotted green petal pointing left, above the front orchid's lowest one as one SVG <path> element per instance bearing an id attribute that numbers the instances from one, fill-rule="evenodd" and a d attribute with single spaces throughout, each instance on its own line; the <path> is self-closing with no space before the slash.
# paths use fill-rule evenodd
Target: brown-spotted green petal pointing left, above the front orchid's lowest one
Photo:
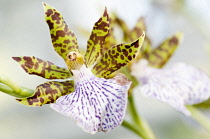
<path id="1" fill-rule="evenodd" d="M 72 76 L 66 68 L 61 68 L 49 61 L 34 56 L 13 57 L 29 74 L 35 74 L 46 79 L 67 79 Z"/>

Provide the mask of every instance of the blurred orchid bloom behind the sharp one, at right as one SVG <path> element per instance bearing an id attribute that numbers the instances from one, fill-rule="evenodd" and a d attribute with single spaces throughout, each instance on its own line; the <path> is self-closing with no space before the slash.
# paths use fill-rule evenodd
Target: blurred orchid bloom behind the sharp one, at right
<path id="1" fill-rule="evenodd" d="M 117 16 L 112 22 L 122 28 L 125 41 L 132 41 L 142 30 L 146 30 L 143 18 L 137 21 L 132 30 Z M 114 42 L 113 35 L 109 37 L 110 42 Z M 182 34 L 176 33 L 153 49 L 146 37 L 138 57 L 130 63 L 130 71 L 140 83 L 136 86 L 143 95 L 166 102 L 189 116 L 185 105 L 198 104 L 210 97 L 210 79 L 201 70 L 184 63 L 160 69 L 173 55 L 181 38 Z"/>

